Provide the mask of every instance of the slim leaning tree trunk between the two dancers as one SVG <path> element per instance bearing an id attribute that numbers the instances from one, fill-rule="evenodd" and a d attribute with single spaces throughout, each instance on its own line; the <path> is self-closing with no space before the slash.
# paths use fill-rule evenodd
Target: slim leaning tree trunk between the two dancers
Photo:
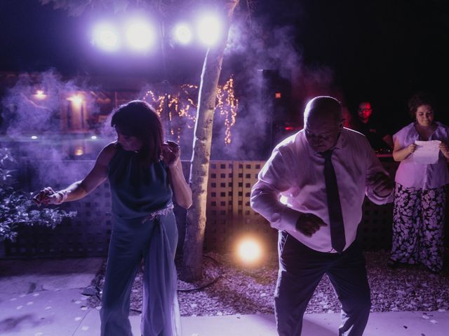
<path id="1" fill-rule="evenodd" d="M 218 78 L 222 70 L 232 15 L 239 0 L 226 0 L 227 22 L 222 40 L 209 48 L 204 59 L 199 87 L 198 111 L 194 132 L 189 184 L 193 193 L 193 205 L 187 211 L 182 270 L 180 278 L 192 282 L 201 279 L 204 230 L 206 229 L 206 199 L 208 190 L 210 144 L 212 142 L 213 111 L 217 95 Z"/>

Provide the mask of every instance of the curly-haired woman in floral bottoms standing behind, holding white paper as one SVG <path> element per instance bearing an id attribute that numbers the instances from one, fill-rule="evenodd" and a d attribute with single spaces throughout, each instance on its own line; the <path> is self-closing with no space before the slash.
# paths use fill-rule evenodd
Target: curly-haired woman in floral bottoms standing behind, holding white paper
<path id="1" fill-rule="evenodd" d="M 415 94 L 408 102 L 414 123 L 394 134 L 396 172 L 393 245 L 389 267 L 421 262 L 431 272 L 443 267 L 446 185 L 449 183 L 449 127 L 434 121 L 432 102 Z M 434 164 L 415 163 L 415 141 L 441 141 Z"/>

